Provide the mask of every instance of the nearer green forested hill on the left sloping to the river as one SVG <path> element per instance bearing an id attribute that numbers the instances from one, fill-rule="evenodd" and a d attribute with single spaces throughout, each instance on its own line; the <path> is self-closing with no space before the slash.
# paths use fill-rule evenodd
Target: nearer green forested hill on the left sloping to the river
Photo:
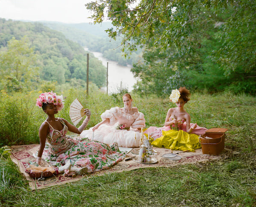
<path id="1" fill-rule="evenodd" d="M 0 18 L 0 51 L 0 90 L 35 88 L 49 81 L 86 85 L 87 52 L 42 23 Z M 104 86 L 105 67 L 93 54 L 89 57 L 89 81 Z"/>

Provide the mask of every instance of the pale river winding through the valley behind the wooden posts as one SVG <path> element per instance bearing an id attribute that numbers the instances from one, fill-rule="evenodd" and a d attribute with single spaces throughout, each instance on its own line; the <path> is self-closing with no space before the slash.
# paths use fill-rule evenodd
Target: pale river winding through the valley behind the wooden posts
<path id="1" fill-rule="evenodd" d="M 87 48 L 85 48 L 86 51 Z M 131 66 L 122 66 L 118 65 L 117 62 L 107 60 L 103 57 L 102 53 L 92 52 L 93 55 L 102 61 L 102 65 L 107 68 L 108 62 L 108 93 L 117 93 L 120 88 L 127 88 L 128 91 L 133 90 L 134 84 L 137 82 L 137 79 L 133 76 L 131 72 Z M 89 62 L 90 64 L 90 62 Z M 106 71 L 107 73 L 107 71 Z M 103 87 L 102 90 L 107 91 L 107 87 Z"/>

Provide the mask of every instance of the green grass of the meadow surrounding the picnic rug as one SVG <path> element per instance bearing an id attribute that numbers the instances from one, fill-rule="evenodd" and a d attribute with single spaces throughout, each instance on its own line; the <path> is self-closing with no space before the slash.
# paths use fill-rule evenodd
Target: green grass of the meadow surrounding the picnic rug
<path id="1" fill-rule="evenodd" d="M 12 128 L 5 123 L 6 120 L 0 118 L 1 125 L 7 128 L 0 129 L 0 143 L 38 143 L 38 128 L 46 118 L 43 111 L 34 106 L 38 94 L 13 94 L 5 99 L 1 96 L 0 103 L 4 108 L 10 108 L 9 103 L 18 102 L 19 109 L 16 111 L 17 114 L 7 114 L 1 107 L 0 116 L 6 118 L 15 116 L 22 123 L 28 121 L 26 129 L 33 130 L 29 132 L 21 130 L 22 136 L 16 138 L 14 136 L 12 139 L 9 139 L 10 136 L 2 137 L 2 134 L 8 135 L 12 132 Z M 99 122 L 100 114 L 106 109 L 113 106 L 122 107 L 120 94 L 106 96 L 96 91 L 86 97 L 85 92 L 75 90 L 63 91 L 62 94 L 67 96 L 67 99 L 65 99 L 65 108 L 59 116 L 70 121 L 69 105 L 73 99 L 79 97 L 82 104 L 92 111 L 88 127 Z M 27 98 L 23 98 L 21 103 L 19 97 Z M 132 94 L 132 97 L 134 105 L 145 114 L 147 127 L 163 126 L 166 112 L 170 107 L 175 106 L 168 99 L 159 99 L 157 96 L 140 97 Z M 25 105 L 26 113 L 29 114 L 25 116 L 26 119 L 23 114 Z M 239 152 L 239 154 L 227 152 L 218 161 L 169 168 L 144 168 L 90 179 L 84 177 L 81 181 L 32 191 L 27 181 L 20 175 L 17 166 L 9 159 L 2 158 L 0 159 L 0 206 L 256 206 L 255 106 L 256 98 L 244 94 L 240 96 L 233 96 L 230 93 L 192 94 L 191 100 L 185 105 L 192 122 L 197 122 L 198 125 L 206 128 L 228 128 L 225 147 Z M 15 119 L 12 119 L 12 122 L 15 122 Z M 16 141 L 17 139 L 19 141 Z"/>

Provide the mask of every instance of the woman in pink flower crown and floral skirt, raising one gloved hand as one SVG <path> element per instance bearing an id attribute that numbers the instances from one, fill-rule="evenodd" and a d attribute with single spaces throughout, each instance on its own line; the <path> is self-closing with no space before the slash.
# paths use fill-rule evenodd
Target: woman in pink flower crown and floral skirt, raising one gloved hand
<path id="1" fill-rule="evenodd" d="M 67 131 L 80 134 L 90 120 L 90 110 L 84 109 L 86 118 L 79 128 L 71 125 L 63 118 L 55 118 L 64 107 L 63 96 L 55 93 L 43 93 L 37 99 L 36 105 L 42 107 L 47 119 L 39 128 L 40 146 L 37 153 L 37 163 L 42 159 L 58 167 L 64 175 L 75 176 L 107 169 L 121 161 L 125 153 L 118 146 L 88 139 L 76 139 L 67 136 Z"/>

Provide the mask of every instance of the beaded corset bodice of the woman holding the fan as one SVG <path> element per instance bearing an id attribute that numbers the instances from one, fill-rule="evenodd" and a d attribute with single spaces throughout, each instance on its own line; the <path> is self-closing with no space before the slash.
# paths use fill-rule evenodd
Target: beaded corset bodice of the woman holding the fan
<path id="1" fill-rule="evenodd" d="M 68 128 L 62 119 L 58 118 L 58 121 L 60 121 L 61 124 L 63 125 L 63 128 L 60 131 L 54 129 L 49 122 L 45 121 L 49 124 L 49 133 L 47 135 L 47 142 L 51 148 L 50 153 L 52 154 L 57 154 L 62 152 L 63 150 L 67 150 L 69 146 L 69 142 L 66 136 Z"/>

